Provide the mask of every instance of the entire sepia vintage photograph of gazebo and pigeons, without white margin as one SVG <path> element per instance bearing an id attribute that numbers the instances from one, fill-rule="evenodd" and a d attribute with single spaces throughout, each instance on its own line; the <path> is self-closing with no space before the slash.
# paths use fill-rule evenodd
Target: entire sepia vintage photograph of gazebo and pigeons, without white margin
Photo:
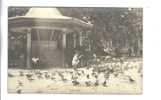
<path id="1" fill-rule="evenodd" d="M 8 93 L 142 94 L 143 8 L 8 7 Z"/>

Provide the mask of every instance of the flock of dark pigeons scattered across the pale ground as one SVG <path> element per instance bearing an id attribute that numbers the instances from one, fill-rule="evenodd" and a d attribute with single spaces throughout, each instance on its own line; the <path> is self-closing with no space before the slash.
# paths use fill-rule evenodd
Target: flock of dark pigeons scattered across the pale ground
<path id="1" fill-rule="evenodd" d="M 29 83 L 34 83 L 35 80 L 50 80 L 53 83 L 62 83 L 64 85 L 71 86 L 103 86 L 108 87 L 109 78 L 111 75 L 118 77 L 124 75 L 125 79 L 129 83 L 135 83 L 135 78 L 124 73 L 133 68 L 137 68 L 138 73 L 141 73 L 141 63 L 137 61 L 132 62 L 115 62 L 115 63 L 101 63 L 99 65 L 91 65 L 91 67 L 78 68 L 78 69 L 63 69 L 54 71 L 44 70 L 19 70 L 17 74 L 8 72 L 9 78 L 23 77 Z M 139 68 L 138 68 L 139 67 Z M 25 83 L 21 80 L 17 80 L 17 87 L 23 87 Z M 17 93 L 21 93 L 22 90 L 18 88 Z"/>

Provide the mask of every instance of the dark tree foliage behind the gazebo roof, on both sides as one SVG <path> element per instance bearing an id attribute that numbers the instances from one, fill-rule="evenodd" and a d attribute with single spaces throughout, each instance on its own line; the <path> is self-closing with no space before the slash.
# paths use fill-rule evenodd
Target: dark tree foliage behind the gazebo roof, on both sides
<path id="1" fill-rule="evenodd" d="M 24 15 L 29 8 L 9 8 L 9 17 Z M 142 8 L 58 8 L 65 16 L 93 24 L 90 40 L 95 52 L 106 48 L 142 51 Z"/>

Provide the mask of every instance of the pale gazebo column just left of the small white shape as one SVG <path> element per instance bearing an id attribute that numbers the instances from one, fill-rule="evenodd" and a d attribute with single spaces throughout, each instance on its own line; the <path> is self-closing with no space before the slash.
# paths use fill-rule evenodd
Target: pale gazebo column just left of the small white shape
<path id="1" fill-rule="evenodd" d="M 27 68 L 31 68 L 31 29 L 27 29 Z"/>

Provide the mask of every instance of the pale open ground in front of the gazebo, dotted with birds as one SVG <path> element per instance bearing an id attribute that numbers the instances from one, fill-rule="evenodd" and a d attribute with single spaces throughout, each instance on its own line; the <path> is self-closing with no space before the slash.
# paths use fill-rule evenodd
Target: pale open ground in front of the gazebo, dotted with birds
<path id="1" fill-rule="evenodd" d="M 142 59 L 101 61 L 77 70 L 9 69 L 8 92 L 139 94 L 142 92 Z"/>

